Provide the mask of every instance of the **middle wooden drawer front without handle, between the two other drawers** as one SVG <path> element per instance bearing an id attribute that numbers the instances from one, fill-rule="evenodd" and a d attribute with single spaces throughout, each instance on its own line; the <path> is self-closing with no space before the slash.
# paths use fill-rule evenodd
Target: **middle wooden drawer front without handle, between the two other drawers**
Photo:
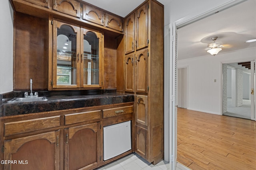
<path id="1" fill-rule="evenodd" d="M 84 121 L 100 119 L 101 110 L 73 113 L 73 114 L 64 115 L 64 117 L 65 117 L 65 125 L 70 125 L 73 123 L 80 123 Z"/>

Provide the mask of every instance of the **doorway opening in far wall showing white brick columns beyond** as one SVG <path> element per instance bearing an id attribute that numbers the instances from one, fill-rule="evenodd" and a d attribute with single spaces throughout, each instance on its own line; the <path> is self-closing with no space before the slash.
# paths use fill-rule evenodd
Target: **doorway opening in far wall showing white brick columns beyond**
<path id="1" fill-rule="evenodd" d="M 254 97 L 251 94 L 251 89 L 254 88 L 254 80 L 251 80 L 254 68 L 252 69 L 251 61 L 222 64 L 223 115 L 251 119 L 251 111 L 254 111 Z"/>

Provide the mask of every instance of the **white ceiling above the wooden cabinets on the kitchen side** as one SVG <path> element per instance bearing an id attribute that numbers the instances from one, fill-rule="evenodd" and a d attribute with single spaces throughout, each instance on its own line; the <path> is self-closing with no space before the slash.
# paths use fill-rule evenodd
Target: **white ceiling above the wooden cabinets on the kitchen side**
<path id="1" fill-rule="evenodd" d="M 94 6 L 112 12 L 121 17 L 126 17 L 130 12 L 137 8 L 145 0 L 83 0 Z M 158 0 L 163 5 L 170 2 L 170 0 Z"/>

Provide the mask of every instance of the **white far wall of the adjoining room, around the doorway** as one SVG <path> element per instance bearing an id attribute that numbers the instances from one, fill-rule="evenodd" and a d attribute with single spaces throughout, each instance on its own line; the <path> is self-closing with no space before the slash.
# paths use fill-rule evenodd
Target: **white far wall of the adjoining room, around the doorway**
<path id="1" fill-rule="evenodd" d="M 250 48 L 218 54 L 215 57 L 204 56 L 178 61 L 178 67 L 188 66 L 188 109 L 221 115 L 222 63 L 255 59 L 255 56 L 256 48 Z"/>

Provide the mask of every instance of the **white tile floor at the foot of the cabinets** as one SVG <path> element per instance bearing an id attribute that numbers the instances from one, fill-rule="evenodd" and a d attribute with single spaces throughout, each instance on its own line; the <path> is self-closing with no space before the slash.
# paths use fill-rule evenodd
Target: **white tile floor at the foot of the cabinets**
<path id="1" fill-rule="evenodd" d="M 162 160 L 156 165 L 148 163 L 136 153 L 129 154 L 97 170 L 169 170 L 169 162 Z"/>

